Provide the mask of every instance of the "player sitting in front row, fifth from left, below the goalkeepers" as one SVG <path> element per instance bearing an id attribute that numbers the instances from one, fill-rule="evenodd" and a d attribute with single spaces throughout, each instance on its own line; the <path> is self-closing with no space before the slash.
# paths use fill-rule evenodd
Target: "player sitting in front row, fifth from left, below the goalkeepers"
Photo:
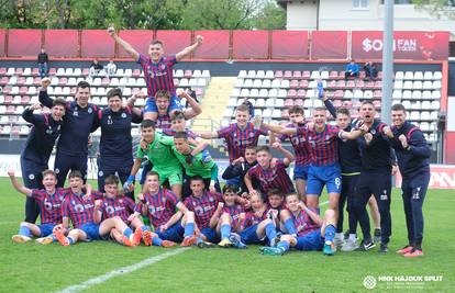
<path id="1" fill-rule="evenodd" d="M 200 176 L 191 177 L 190 188 L 191 195 L 185 199 L 185 206 L 195 213 L 195 230 L 199 236 L 197 245 L 200 248 L 211 247 L 211 244 L 220 241 L 215 230 L 218 222 L 213 215 L 217 210 L 221 213 L 222 194 L 206 190 L 204 180 Z"/>

